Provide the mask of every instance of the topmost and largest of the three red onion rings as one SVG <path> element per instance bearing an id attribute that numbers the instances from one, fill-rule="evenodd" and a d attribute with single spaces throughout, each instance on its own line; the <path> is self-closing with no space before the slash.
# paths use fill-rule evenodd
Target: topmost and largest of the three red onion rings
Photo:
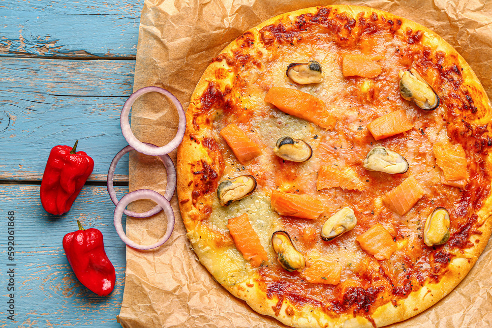
<path id="1" fill-rule="evenodd" d="M 171 140 L 167 145 L 157 148 L 149 147 L 143 142 L 141 142 L 140 140 L 138 140 L 133 135 L 133 132 L 131 132 L 130 123 L 128 123 L 128 114 L 130 113 L 130 108 L 135 102 L 135 100 L 137 100 L 137 98 L 144 93 L 154 92 L 154 91 L 162 93 L 173 102 L 173 104 L 176 106 L 176 109 L 178 111 L 178 116 L 180 119 L 178 123 L 178 132 L 176 133 L 176 136 L 173 138 L 173 140 Z M 130 97 L 125 101 L 123 105 L 122 114 L 120 115 L 120 124 L 122 127 L 123 137 L 126 139 L 128 144 L 133 147 L 133 149 L 146 155 L 158 156 L 158 155 L 167 154 L 170 151 L 176 149 L 181 143 L 181 141 L 183 141 L 184 130 L 186 129 L 186 118 L 184 116 L 183 106 L 181 105 L 178 98 L 176 98 L 171 92 L 159 87 L 145 87 L 133 92 L 130 95 Z"/>

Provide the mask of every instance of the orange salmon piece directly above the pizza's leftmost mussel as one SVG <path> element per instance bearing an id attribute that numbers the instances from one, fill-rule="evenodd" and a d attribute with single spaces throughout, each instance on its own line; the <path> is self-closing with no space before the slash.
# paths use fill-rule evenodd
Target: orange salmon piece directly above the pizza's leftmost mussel
<path id="1" fill-rule="evenodd" d="M 245 164 L 248 160 L 261 155 L 258 145 L 252 142 L 244 131 L 234 123 L 228 124 L 220 130 L 220 135 L 225 139 L 225 142 L 241 164 Z"/>

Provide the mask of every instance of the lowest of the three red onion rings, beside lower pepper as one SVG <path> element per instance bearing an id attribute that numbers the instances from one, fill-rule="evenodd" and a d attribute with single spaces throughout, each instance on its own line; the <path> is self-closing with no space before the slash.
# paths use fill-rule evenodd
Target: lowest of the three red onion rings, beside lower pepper
<path id="1" fill-rule="evenodd" d="M 137 244 L 136 242 L 126 237 L 126 234 L 123 231 L 123 225 L 122 225 L 123 210 L 128 204 L 139 199 L 153 200 L 155 203 L 157 203 L 164 209 L 164 213 L 167 215 L 166 234 L 164 235 L 164 237 L 162 237 L 152 245 Z M 120 238 L 123 240 L 125 244 L 136 249 L 149 250 L 159 247 L 160 245 L 164 244 L 169 239 L 169 237 L 171 237 L 171 234 L 173 233 L 174 230 L 174 212 L 173 209 L 171 208 L 171 204 L 169 203 L 169 201 L 165 199 L 164 196 L 162 196 L 158 192 L 150 189 L 138 189 L 127 193 L 118 202 L 115 209 L 114 223 L 118 236 L 120 236 Z"/>

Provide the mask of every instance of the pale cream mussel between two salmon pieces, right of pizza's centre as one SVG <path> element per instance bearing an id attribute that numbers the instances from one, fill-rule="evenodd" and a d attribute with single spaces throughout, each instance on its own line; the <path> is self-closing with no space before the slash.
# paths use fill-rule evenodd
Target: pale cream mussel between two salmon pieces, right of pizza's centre
<path id="1" fill-rule="evenodd" d="M 398 152 L 376 146 L 368 152 L 363 167 L 369 171 L 396 174 L 408 171 L 408 162 Z"/>

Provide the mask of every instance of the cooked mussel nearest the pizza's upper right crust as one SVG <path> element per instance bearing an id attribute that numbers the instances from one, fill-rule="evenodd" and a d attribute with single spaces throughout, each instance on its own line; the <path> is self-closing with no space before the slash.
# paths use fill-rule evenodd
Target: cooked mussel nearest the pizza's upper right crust
<path id="1" fill-rule="evenodd" d="M 429 83 L 413 68 L 400 71 L 400 94 L 403 99 L 411 100 L 419 108 L 431 111 L 439 106 L 439 97 Z"/>

